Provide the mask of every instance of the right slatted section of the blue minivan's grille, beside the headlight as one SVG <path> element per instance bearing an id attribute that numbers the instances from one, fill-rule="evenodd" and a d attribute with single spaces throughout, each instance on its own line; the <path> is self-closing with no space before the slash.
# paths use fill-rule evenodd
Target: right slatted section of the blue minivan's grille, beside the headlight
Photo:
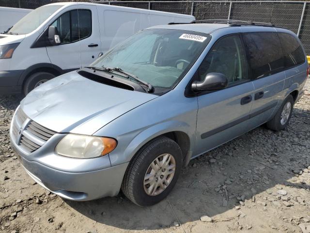
<path id="1" fill-rule="evenodd" d="M 21 133 L 20 146 L 29 152 L 39 149 L 56 132 L 31 121 L 26 129 Z"/>

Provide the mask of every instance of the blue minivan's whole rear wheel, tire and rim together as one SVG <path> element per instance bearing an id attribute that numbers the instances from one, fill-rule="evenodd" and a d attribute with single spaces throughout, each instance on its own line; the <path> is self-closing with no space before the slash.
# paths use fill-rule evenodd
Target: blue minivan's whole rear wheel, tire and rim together
<path id="1" fill-rule="evenodd" d="M 285 129 L 288 125 L 293 112 L 294 99 L 289 95 L 280 106 L 276 115 L 267 122 L 267 127 L 274 131 Z"/>

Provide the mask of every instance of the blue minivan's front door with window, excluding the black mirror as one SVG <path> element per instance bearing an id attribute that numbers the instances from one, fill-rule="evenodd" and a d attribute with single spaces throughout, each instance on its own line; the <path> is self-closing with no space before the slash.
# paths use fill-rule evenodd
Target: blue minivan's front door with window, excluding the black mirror
<path id="1" fill-rule="evenodd" d="M 239 34 L 222 37 L 199 67 L 198 80 L 206 74 L 223 73 L 228 87 L 198 96 L 196 149 L 194 155 L 211 150 L 253 128 L 248 125 L 253 83 Z"/>

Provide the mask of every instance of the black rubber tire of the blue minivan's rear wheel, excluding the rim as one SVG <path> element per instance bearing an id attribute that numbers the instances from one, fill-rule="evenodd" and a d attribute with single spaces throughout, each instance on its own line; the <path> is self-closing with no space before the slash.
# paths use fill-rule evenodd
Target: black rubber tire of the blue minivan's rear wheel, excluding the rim
<path id="1" fill-rule="evenodd" d="M 291 112 L 285 124 L 281 124 L 281 113 L 287 102 L 291 103 Z M 289 121 L 291 119 L 292 112 L 293 112 L 293 106 L 294 106 L 294 99 L 292 95 L 289 95 L 288 97 L 286 97 L 286 99 L 283 101 L 283 103 L 279 107 L 279 110 L 276 113 L 276 115 L 266 123 L 267 128 L 269 128 L 270 130 L 274 130 L 274 131 L 284 130 L 285 127 L 289 124 Z"/>

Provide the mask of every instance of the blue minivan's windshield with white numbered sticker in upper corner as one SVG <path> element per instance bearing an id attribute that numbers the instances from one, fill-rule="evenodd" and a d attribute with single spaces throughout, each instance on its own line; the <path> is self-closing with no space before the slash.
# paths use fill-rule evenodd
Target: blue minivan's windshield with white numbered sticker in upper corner
<path id="1" fill-rule="evenodd" d="M 205 33 L 149 29 L 118 44 L 91 64 L 119 67 L 155 87 L 173 88 L 210 41 Z"/>

